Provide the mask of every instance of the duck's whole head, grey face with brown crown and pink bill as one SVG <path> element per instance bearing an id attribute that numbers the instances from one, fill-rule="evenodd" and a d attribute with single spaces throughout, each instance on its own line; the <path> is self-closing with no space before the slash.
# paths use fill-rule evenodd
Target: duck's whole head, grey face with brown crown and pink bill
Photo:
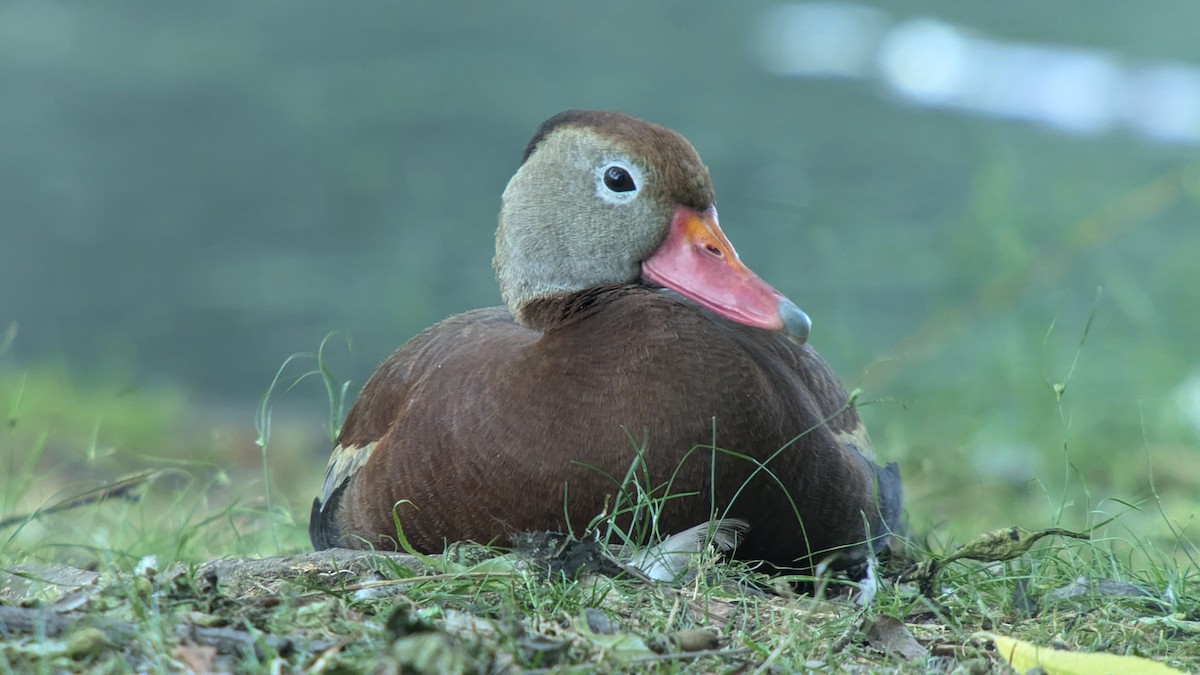
<path id="1" fill-rule="evenodd" d="M 691 144 L 622 113 L 568 110 L 541 125 L 504 190 L 492 267 L 527 325 L 533 300 L 620 283 L 667 288 L 797 342 L 811 325 L 742 264 Z"/>

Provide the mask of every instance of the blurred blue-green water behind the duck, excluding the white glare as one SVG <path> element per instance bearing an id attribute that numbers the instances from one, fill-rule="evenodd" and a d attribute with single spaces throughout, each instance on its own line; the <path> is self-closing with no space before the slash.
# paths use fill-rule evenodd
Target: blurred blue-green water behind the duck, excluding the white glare
<path id="1" fill-rule="evenodd" d="M 808 5 L 841 16 L 808 34 L 768 22 L 796 36 L 781 62 L 816 59 L 829 79 L 763 67 L 775 7 L 10 1 L 8 358 L 127 369 L 248 414 L 288 354 L 342 331 L 354 352 L 335 366 L 362 382 L 425 325 L 498 303 L 499 193 L 534 127 L 569 107 L 688 136 L 726 232 L 812 315 L 812 342 L 852 384 L 886 358 L 901 370 L 872 381 L 883 393 L 896 378 L 971 386 L 964 359 L 1036 344 L 1056 306 L 1086 313 L 1102 285 L 1115 341 L 1099 353 L 1160 339 L 1156 368 L 1192 358 L 1195 186 L 1174 183 L 1158 210 L 1134 199 L 1111 226 L 1087 219 L 1194 161 L 1194 147 L 1144 137 L 1195 141 L 1195 101 L 1163 91 L 1194 86 L 1200 6 L 830 4 Z M 991 71 L 950 56 L 978 65 L 984 48 L 1069 58 L 1048 86 L 1082 91 L 1072 109 L 1096 118 L 1042 129 L 962 114 L 982 103 L 947 83 Z M 930 65 L 949 70 L 930 79 Z M 1093 106 L 1086 94 L 1114 78 L 1139 104 Z M 1118 119 L 1136 133 L 1078 135 Z M 962 307 L 983 313 L 930 328 Z"/>

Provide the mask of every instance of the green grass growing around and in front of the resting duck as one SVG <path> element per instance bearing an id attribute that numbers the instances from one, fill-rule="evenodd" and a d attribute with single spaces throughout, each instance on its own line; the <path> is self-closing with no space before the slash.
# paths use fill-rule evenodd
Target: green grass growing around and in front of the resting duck
<path id="1" fill-rule="evenodd" d="M 1010 525 L 1091 539 L 1048 537 L 1012 560 L 955 561 L 928 593 L 900 575 L 906 562 L 884 561 L 888 580 L 866 608 L 845 580 L 818 578 L 812 593 L 797 595 L 786 580 L 716 556 L 671 586 L 547 573 L 470 545 L 366 556 L 340 575 L 314 554 L 247 581 L 238 571 L 250 563 L 220 561 L 308 550 L 307 507 L 325 449 L 308 440 L 313 430 L 271 412 L 276 393 L 316 376 L 332 431 L 348 389 L 330 375 L 328 345 L 284 364 L 253 430 L 215 426 L 178 392 L 79 383 L 54 366 L 0 370 L 0 519 L 31 514 L 0 530 L 0 673 L 1001 669 L 984 632 L 1196 671 L 1200 554 L 1189 521 L 1172 515 L 1193 497 L 1187 485 L 1157 480 L 1162 460 L 1150 441 L 1132 456 L 1093 456 L 1103 438 L 1080 440 L 1069 396 L 1090 327 L 1088 318 L 1062 376 L 1040 383 L 1051 424 L 1030 442 L 1055 448 L 1057 461 L 1025 480 L 973 473 L 958 454 L 917 461 L 878 406 L 866 413 L 884 423 L 881 454 L 902 461 L 917 560 Z M 287 375 L 293 369 L 299 375 Z M 913 426 L 955 435 L 959 424 Z M 1091 484 L 1097 460 L 1120 462 L 1109 468 L 1144 477 L 1145 489 L 1118 498 L 1111 484 Z M 594 522 L 612 540 L 653 532 L 666 494 L 638 476 L 635 461 L 610 477 L 628 488 L 612 510 L 641 514 L 648 527 Z M 103 491 L 114 484 L 122 489 Z M 76 508 L 55 510 L 72 498 Z M 13 616 L 32 623 L 18 627 Z"/>

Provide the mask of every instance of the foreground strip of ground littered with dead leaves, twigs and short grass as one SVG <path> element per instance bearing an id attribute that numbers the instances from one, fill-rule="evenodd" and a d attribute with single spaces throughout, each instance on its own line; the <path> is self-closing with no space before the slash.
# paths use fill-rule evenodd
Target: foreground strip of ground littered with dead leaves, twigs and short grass
<path id="1" fill-rule="evenodd" d="M 1032 543 L 1028 534 L 1016 533 L 1019 545 Z M 1013 539 L 1009 531 L 1003 537 Z M 0 601 L 0 635 L 6 640 L 0 664 L 8 658 L 18 669 L 43 671 L 126 663 L 144 671 L 984 673 L 1002 667 L 1008 655 L 982 641 L 964 641 L 964 635 L 980 628 L 1010 631 L 1010 610 L 1018 605 L 1010 598 L 1037 604 L 1034 589 L 1042 589 L 1043 602 L 1054 595 L 1044 577 L 1009 575 L 1007 585 L 994 583 L 986 593 L 970 593 L 973 586 L 947 574 L 944 602 L 917 596 L 911 608 L 900 610 L 907 614 L 900 621 L 872 616 L 870 608 L 856 608 L 842 595 L 764 592 L 770 589 L 767 580 L 737 563 L 706 568 L 686 584 L 660 584 L 636 572 L 608 577 L 587 565 L 572 567 L 596 551 L 588 545 L 576 550 L 580 542 L 569 537 L 532 540 L 533 557 L 541 563 L 464 545 L 437 557 L 332 550 L 144 574 L 41 569 L 42 578 L 58 574 L 53 578 L 83 584 L 64 584 L 66 593 L 43 586 L 26 598 L 40 603 L 35 605 L 6 607 Z M 944 560 L 985 555 L 984 549 L 960 549 Z M 547 577 L 556 565 L 558 574 Z M 572 577 L 570 569 L 584 577 Z M 1069 619 L 1060 622 L 1068 637 L 1061 649 L 1153 653 L 1166 663 L 1175 658 L 1176 664 L 1192 665 L 1188 652 L 1180 661 L 1156 651 L 1153 641 L 1194 637 L 1200 622 L 1186 611 L 1190 605 L 1172 605 L 1177 614 L 1171 616 L 1129 620 L 1138 603 L 1165 601 L 1146 587 L 1081 572 L 1074 583 L 1070 575 L 1052 578 L 1050 587 L 1062 586 L 1057 595 L 1064 598 L 1091 593 L 1132 602 L 1112 603 L 1120 605 L 1120 616 L 1058 613 L 1062 621 Z M 1163 598 L 1172 598 L 1170 589 Z M 388 592 L 364 592 L 372 590 Z M 886 586 L 881 592 L 905 591 Z M 985 616 L 978 615 L 979 608 Z M 1030 614 L 1036 615 L 1021 616 Z M 1123 629 L 1112 621 L 1120 617 L 1126 617 Z M 1031 619 L 1022 621 L 1018 632 L 1033 626 Z M 1120 639 L 1108 638 L 1114 626 Z M 1104 641 L 1090 638 L 1093 634 Z M 1045 649 L 1061 645 L 1036 632 L 1022 638 L 1049 645 Z"/>

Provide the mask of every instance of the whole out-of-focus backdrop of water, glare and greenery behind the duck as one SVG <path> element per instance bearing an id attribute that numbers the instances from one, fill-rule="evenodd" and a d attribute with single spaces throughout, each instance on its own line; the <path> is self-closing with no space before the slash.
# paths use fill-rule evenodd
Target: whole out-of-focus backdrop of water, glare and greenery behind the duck
<path id="1" fill-rule="evenodd" d="M 584 107 L 696 145 L 743 259 L 862 390 L 914 531 L 1140 504 L 1126 531 L 1189 536 L 1196 25 L 1190 0 L 7 0 L 0 508 L 173 466 L 205 503 L 272 484 L 301 532 L 329 404 L 317 378 L 275 401 L 264 477 L 276 372 L 335 334 L 353 396 L 498 304 L 499 195 Z"/>

